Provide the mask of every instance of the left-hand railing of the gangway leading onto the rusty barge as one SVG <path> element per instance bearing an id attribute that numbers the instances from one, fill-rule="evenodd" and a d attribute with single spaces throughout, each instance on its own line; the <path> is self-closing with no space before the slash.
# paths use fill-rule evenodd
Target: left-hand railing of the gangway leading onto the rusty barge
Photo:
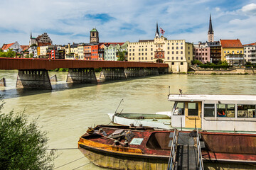
<path id="1" fill-rule="evenodd" d="M 167 168 L 168 170 L 172 170 L 175 168 L 177 145 L 178 145 L 178 130 L 174 129 L 174 136 L 171 142 L 171 152 L 170 152 L 168 168 Z"/>

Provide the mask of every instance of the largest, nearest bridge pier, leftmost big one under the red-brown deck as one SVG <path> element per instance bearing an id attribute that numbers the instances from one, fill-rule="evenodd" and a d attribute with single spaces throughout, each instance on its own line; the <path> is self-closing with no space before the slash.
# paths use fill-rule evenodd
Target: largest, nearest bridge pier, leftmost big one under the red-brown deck
<path id="1" fill-rule="evenodd" d="M 49 74 L 46 69 L 18 70 L 16 87 L 26 89 L 52 89 Z"/>

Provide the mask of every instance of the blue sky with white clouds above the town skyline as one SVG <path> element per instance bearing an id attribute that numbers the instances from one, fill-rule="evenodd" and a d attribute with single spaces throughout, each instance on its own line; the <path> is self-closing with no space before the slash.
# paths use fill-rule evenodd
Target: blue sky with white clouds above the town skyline
<path id="1" fill-rule="evenodd" d="M 28 45 L 48 33 L 53 44 L 154 39 L 156 22 L 169 40 L 206 42 L 211 14 L 214 39 L 256 42 L 256 0 L 0 0 L 0 46 Z"/>

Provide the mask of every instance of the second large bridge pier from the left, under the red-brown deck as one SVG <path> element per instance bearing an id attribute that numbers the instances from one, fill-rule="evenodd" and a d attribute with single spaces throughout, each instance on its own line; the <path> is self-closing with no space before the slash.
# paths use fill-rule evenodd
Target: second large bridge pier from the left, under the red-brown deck
<path id="1" fill-rule="evenodd" d="M 68 69 L 67 82 L 97 84 L 94 69 Z"/>

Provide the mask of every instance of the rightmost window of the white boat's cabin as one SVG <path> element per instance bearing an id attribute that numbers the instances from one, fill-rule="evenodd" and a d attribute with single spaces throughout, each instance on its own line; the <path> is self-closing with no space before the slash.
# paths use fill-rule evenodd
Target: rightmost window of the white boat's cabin
<path id="1" fill-rule="evenodd" d="M 239 105 L 238 118 L 255 118 L 255 105 Z"/>

